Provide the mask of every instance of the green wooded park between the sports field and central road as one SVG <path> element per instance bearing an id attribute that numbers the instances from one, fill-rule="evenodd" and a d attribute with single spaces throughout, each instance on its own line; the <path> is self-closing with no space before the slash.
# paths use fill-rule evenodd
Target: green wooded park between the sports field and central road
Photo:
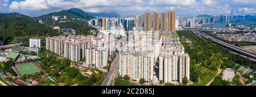
<path id="1" fill-rule="evenodd" d="M 104 78 L 103 72 L 100 70 L 91 70 L 93 74 L 90 77 L 81 74 L 79 69 L 71 67 L 71 60 L 59 59 L 53 52 L 42 51 L 39 54 L 40 61 L 43 68 L 49 76 L 55 78 L 57 82 L 40 82 L 39 85 L 51 85 L 51 84 L 64 84 L 64 85 L 79 85 L 79 86 L 98 86 Z M 96 73 L 97 72 L 97 73 Z M 46 84 L 47 83 L 47 84 Z"/>

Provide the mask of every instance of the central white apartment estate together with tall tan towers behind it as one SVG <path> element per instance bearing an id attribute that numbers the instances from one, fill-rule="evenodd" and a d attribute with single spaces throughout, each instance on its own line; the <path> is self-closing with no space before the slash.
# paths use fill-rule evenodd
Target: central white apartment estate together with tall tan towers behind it
<path id="1" fill-rule="evenodd" d="M 175 11 L 136 15 L 135 25 L 143 31 L 129 33 L 119 56 L 120 76 L 151 82 L 156 74 L 159 81 L 175 84 L 183 83 L 184 77 L 189 80 L 189 56 L 174 37 Z"/>

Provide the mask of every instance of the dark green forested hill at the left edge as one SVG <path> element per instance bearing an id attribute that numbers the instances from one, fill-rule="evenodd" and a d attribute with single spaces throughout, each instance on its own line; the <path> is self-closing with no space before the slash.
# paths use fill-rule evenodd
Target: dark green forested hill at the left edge
<path id="1" fill-rule="evenodd" d="M 3 45 L 9 44 L 15 36 L 57 36 L 59 33 L 52 30 L 29 16 L 19 14 L 0 14 L 0 41 Z"/>

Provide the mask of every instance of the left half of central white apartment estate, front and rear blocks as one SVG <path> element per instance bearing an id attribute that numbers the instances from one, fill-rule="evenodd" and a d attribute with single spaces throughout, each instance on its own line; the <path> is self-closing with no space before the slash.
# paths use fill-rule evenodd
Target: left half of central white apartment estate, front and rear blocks
<path id="1" fill-rule="evenodd" d="M 147 82 L 152 81 L 160 43 L 158 32 L 129 33 L 128 41 L 123 44 L 119 56 L 120 76 L 127 74 L 131 80 L 143 78 Z"/>

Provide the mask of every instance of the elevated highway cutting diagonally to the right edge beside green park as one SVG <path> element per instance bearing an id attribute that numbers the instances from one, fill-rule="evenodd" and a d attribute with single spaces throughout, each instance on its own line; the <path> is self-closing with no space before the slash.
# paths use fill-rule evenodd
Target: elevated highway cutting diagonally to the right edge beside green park
<path id="1" fill-rule="evenodd" d="M 221 46 L 225 47 L 226 49 L 229 49 L 229 50 L 231 50 L 231 51 L 233 51 L 233 52 L 236 52 L 237 54 L 240 54 L 240 55 L 242 55 L 243 57 L 249 58 L 250 60 L 256 62 L 256 54 L 255 54 L 255 52 L 253 52 L 253 51 L 248 51 L 248 50 L 242 49 L 242 48 L 240 48 L 240 47 L 230 45 L 229 43 L 220 41 L 220 40 L 215 39 L 215 38 L 213 38 L 213 37 L 211 37 L 211 36 L 208 36 L 207 34 L 204 34 L 204 33 L 195 32 L 195 31 L 193 31 L 193 33 L 195 33 L 197 36 L 202 36 L 202 37 L 204 37 L 204 38 L 210 39 L 210 40 L 212 40 L 214 43 L 218 43 L 218 44 L 220 44 Z"/>

